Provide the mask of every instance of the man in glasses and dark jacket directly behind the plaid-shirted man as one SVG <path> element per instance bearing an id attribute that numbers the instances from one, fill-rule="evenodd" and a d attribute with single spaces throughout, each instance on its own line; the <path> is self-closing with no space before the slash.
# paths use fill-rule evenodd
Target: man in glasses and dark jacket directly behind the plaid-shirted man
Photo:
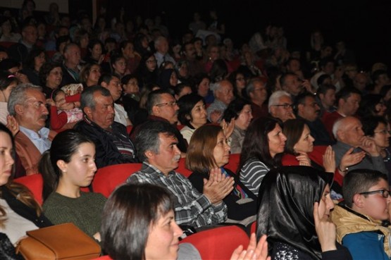
<path id="1" fill-rule="evenodd" d="M 188 144 L 178 128 L 176 128 L 176 124 L 178 123 L 179 106 L 173 95 L 165 89 L 156 89 L 152 91 L 148 95 L 147 110 L 149 113 L 147 122 L 151 120 L 159 120 L 168 122 L 170 125 L 175 126 L 173 131 L 175 137 L 178 139 L 178 148 L 180 151 L 182 151 L 182 156 L 185 156 Z M 143 124 L 144 123 L 137 125 L 135 128 L 132 128 L 132 132 L 130 132 L 130 139 L 133 142 L 135 142 L 136 135 L 142 129 Z"/>

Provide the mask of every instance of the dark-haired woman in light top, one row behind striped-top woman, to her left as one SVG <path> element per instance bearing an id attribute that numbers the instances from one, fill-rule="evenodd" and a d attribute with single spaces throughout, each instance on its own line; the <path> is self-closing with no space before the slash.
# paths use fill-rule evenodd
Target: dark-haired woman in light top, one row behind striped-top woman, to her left
<path id="1" fill-rule="evenodd" d="M 252 121 L 252 107 L 250 101 L 236 98 L 228 105 L 223 114 L 225 122 L 235 121 L 235 128 L 230 137 L 230 147 L 232 154 L 242 152 L 242 144 L 246 130 Z"/>

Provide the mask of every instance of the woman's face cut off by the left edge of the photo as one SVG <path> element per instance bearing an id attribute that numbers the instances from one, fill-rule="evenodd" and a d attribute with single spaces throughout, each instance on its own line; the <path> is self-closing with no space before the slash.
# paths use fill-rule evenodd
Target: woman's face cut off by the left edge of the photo
<path id="1" fill-rule="evenodd" d="M 8 182 L 12 173 L 13 146 L 11 137 L 6 132 L 0 132 L 0 186 Z"/>

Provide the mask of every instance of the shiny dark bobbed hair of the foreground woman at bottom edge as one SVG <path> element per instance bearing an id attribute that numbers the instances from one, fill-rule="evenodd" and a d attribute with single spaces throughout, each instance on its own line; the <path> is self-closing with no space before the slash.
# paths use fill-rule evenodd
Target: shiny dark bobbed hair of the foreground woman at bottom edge
<path id="1" fill-rule="evenodd" d="M 151 225 L 173 208 L 164 187 L 149 183 L 121 185 L 104 206 L 102 248 L 112 259 L 145 259 Z"/>

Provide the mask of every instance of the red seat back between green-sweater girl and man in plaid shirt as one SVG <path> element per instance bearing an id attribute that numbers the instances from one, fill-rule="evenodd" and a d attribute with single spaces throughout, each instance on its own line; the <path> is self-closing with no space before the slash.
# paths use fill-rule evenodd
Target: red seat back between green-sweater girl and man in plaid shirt
<path id="1" fill-rule="evenodd" d="M 132 173 L 139 171 L 141 166 L 142 163 L 121 163 L 99 168 L 92 180 L 92 190 L 108 197 Z"/>

